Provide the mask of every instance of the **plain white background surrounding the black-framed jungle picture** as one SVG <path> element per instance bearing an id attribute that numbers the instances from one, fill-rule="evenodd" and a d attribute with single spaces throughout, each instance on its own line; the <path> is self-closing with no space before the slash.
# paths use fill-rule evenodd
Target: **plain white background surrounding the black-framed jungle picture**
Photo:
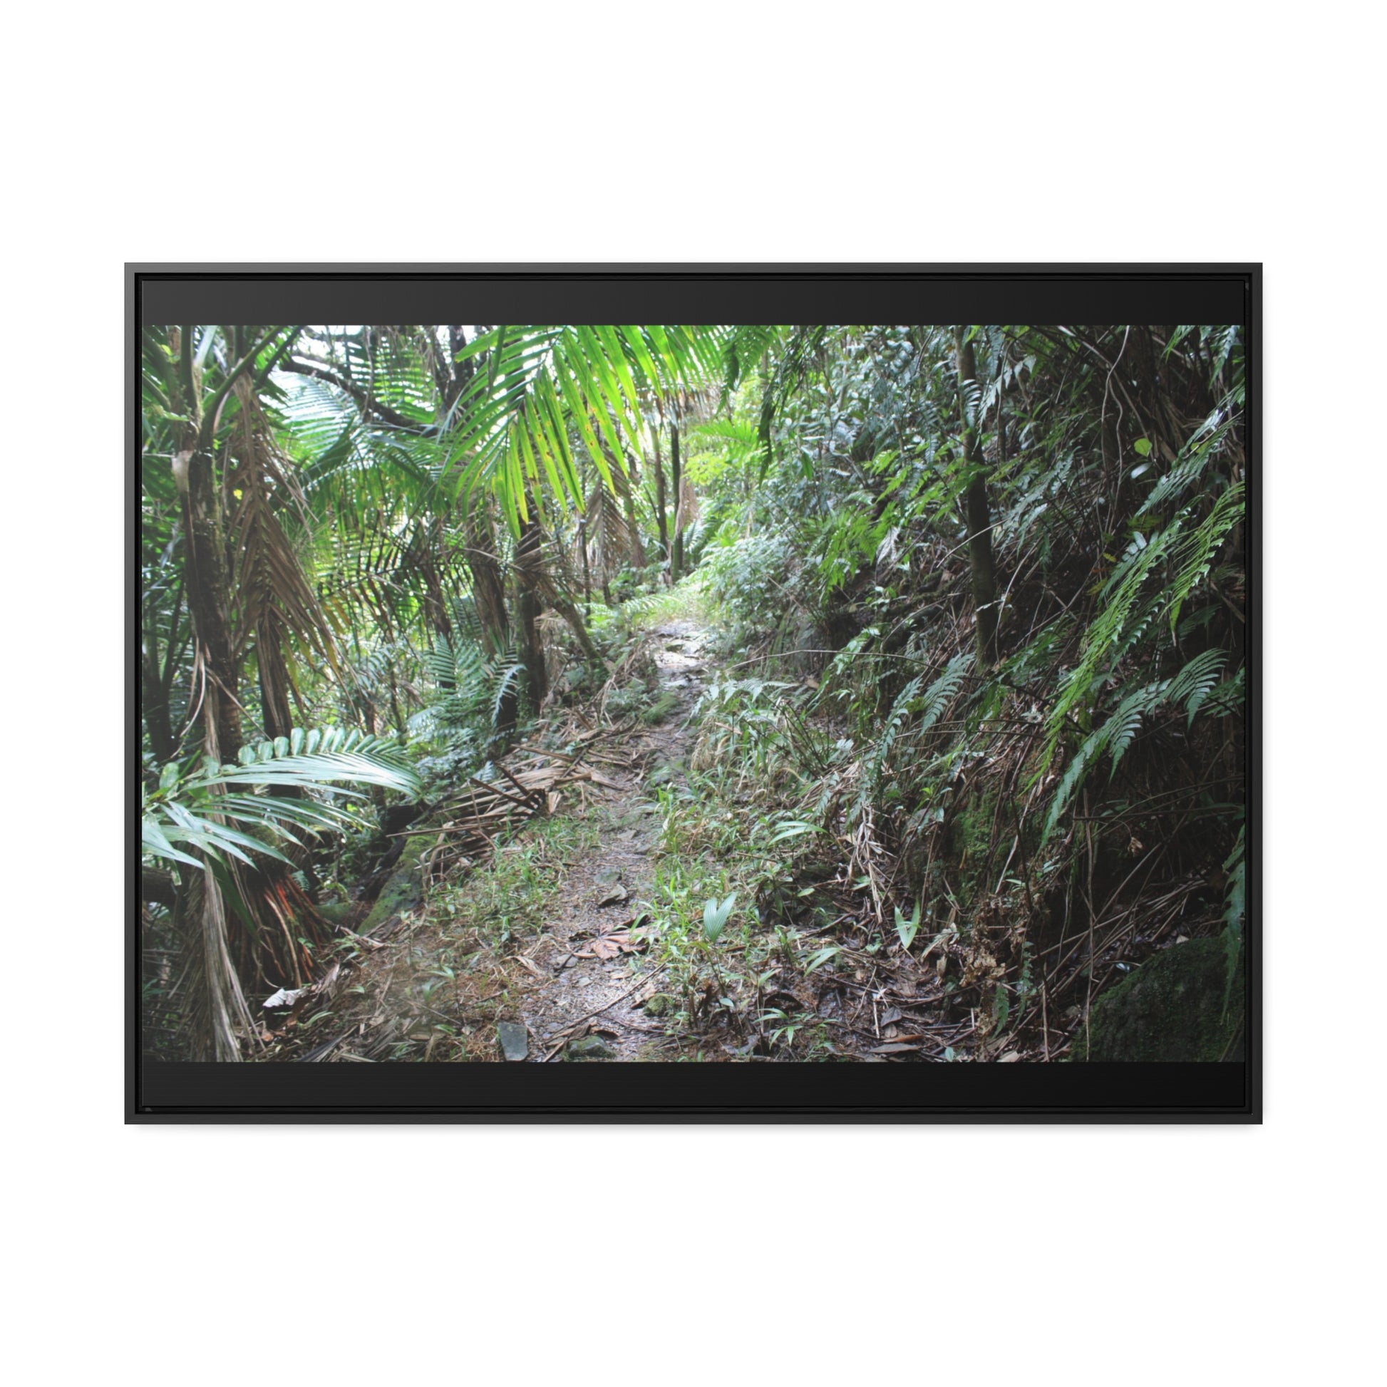
<path id="1" fill-rule="evenodd" d="M 1375 1376 L 1368 12 L 11 17 L 15 1381 Z M 126 259 L 1265 261 L 1265 1126 L 122 1126 Z"/>

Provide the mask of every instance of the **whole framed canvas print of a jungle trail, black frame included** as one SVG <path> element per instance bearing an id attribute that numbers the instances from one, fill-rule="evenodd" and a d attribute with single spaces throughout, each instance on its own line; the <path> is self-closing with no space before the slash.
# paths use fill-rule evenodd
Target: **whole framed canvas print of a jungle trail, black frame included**
<path id="1" fill-rule="evenodd" d="M 128 266 L 128 1121 L 1259 1121 L 1259 294 Z"/>

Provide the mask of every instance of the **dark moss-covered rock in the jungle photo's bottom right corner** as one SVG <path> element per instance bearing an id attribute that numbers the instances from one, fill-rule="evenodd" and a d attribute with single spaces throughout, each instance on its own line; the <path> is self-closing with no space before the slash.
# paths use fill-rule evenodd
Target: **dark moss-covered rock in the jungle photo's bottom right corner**
<path id="1" fill-rule="evenodd" d="M 1241 1060 L 1243 970 L 1223 1013 L 1227 956 L 1219 939 L 1162 949 L 1110 988 L 1080 1029 L 1075 1060 Z"/>

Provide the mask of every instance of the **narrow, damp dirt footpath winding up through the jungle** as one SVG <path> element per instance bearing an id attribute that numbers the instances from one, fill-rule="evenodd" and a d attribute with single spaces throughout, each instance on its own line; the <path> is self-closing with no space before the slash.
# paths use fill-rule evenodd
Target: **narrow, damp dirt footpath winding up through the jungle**
<path id="1" fill-rule="evenodd" d="M 687 723 L 705 687 L 709 632 L 678 620 L 651 639 L 659 692 L 675 703 L 660 724 L 621 743 L 627 770 L 603 767 L 612 784 L 588 807 L 599 846 L 567 872 L 558 914 L 528 954 L 540 968 L 520 1004 L 531 1061 L 660 1058 L 666 1043 L 664 1028 L 641 1010 L 660 990 L 662 968 L 635 951 L 627 931 L 655 892 L 660 820 L 652 781 L 684 778 Z"/>

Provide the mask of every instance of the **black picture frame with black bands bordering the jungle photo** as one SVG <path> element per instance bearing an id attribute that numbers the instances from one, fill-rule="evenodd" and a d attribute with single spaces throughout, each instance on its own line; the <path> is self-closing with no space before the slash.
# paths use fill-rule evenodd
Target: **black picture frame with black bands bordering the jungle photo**
<path id="1" fill-rule="evenodd" d="M 1261 293 L 1214 265 L 125 266 L 129 1123 L 1262 1119 Z M 1246 1060 L 1225 1064 L 154 1064 L 139 1043 L 139 329 L 146 322 L 1230 323 L 1246 329 Z"/>

